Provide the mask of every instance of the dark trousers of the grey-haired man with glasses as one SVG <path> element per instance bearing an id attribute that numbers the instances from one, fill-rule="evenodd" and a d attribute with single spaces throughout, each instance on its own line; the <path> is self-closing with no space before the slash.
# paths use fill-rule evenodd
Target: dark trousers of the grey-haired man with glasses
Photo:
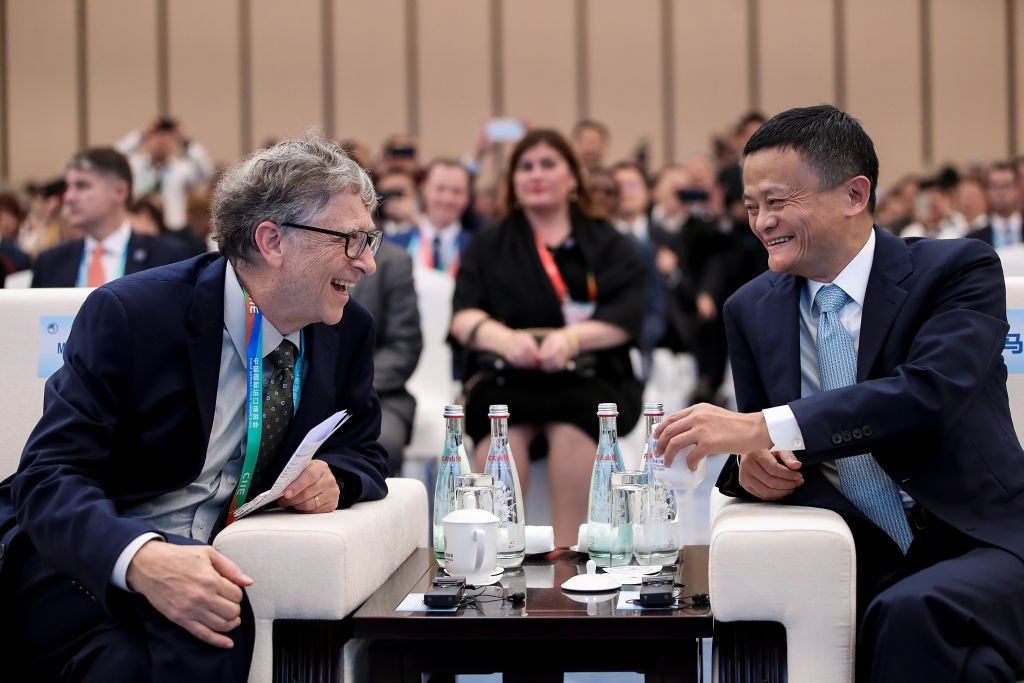
<path id="1" fill-rule="evenodd" d="M 14 558 L 11 558 L 14 559 Z M 243 683 L 252 661 L 254 620 L 248 598 L 234 647 L 202 642 L 141 595 L 112 588 L 98 601 L 35 552 L 5 565 L 0 612 L 6 650 L 0 681 Z"/>

